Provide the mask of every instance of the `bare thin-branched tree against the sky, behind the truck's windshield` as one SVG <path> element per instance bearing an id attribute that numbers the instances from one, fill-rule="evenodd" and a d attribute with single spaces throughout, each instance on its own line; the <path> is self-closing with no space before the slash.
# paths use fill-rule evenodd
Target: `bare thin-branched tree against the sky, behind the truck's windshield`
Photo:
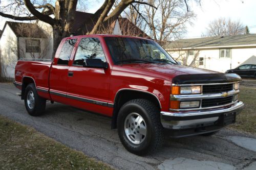
<path id="1" fill-rule="evenodd" d="M 186 31 L 186 24 L 192 24 L 196 17 L 188 10 L 186 1 L 148 0 L 148 3 L 152 5 L 145 7 L 149 33 L 156 41 L 179 38 Z"/>

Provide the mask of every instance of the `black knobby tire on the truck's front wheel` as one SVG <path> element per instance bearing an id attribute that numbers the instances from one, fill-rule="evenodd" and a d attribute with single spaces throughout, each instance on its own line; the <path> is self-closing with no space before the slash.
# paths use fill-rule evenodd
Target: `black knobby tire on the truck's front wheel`
<path id="1" fill-rule="evenodd" d="M 124 128 L 126 117 L 133 113 L 140 115 L 146 125 L 146 135 L 144 139 L 142 139 L 143 141 L 138 144 L 133 143 L 131 139 L 127 137 Z M 137 128 L 139 128 L 139 126 Z M 117 129 L 119 138 L 125 149 L 136 155 L 151 153 L 160 148 L 163 143 L 163 127 L 160 122 L 160 110 L 151 101 L 145 99 L 134 99 L 126 102 L 121 107 L 117 117 Z"/>

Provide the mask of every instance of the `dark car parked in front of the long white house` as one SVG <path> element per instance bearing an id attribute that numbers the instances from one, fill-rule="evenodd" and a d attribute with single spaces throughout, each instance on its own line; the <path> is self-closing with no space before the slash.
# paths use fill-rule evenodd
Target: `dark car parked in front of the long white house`
<path id="1" fill-rule="evenodd" d="M 255 64 L 244 64 L 234 69 L 229 69 L 226 73 L 235 73 L 244 78 L 255 78 L 256 79 L 256 65 Z"/>

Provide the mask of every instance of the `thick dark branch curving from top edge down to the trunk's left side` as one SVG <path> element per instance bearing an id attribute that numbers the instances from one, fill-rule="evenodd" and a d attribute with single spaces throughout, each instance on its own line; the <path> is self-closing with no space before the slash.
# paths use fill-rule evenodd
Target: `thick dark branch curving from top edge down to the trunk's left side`
<path id="1" fill-rule="evenodd" d="M 49 23 L 51 26 L 53 26 L 56 23 L 56 20 L 51 18 L 48 15 L 45 15 L 43 13 L 40 13 L 35 9 L 33 4 L 29 0 L 24 1 L 26 7 L 28 8 L 29 12 L 31 12 L 32 15 L 34 15 L 36 18 L 38 18 L 41 21 Z"/>

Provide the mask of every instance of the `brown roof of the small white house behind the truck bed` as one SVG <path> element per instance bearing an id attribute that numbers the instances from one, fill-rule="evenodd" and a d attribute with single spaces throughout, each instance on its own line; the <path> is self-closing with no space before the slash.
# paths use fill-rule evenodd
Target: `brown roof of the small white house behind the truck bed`
<path id="1" fill-rule="evenodd" d="M 11 30 L 17 37 L 32 37 L 32 38 L 44 38 L 46 37 L 44 31 L 39 28 L 35 23 L 26 23 L 26 22 L 11 22 L 6 21 L 3 32 L 6 28 L 6 25 L 9 25 Z"/>

